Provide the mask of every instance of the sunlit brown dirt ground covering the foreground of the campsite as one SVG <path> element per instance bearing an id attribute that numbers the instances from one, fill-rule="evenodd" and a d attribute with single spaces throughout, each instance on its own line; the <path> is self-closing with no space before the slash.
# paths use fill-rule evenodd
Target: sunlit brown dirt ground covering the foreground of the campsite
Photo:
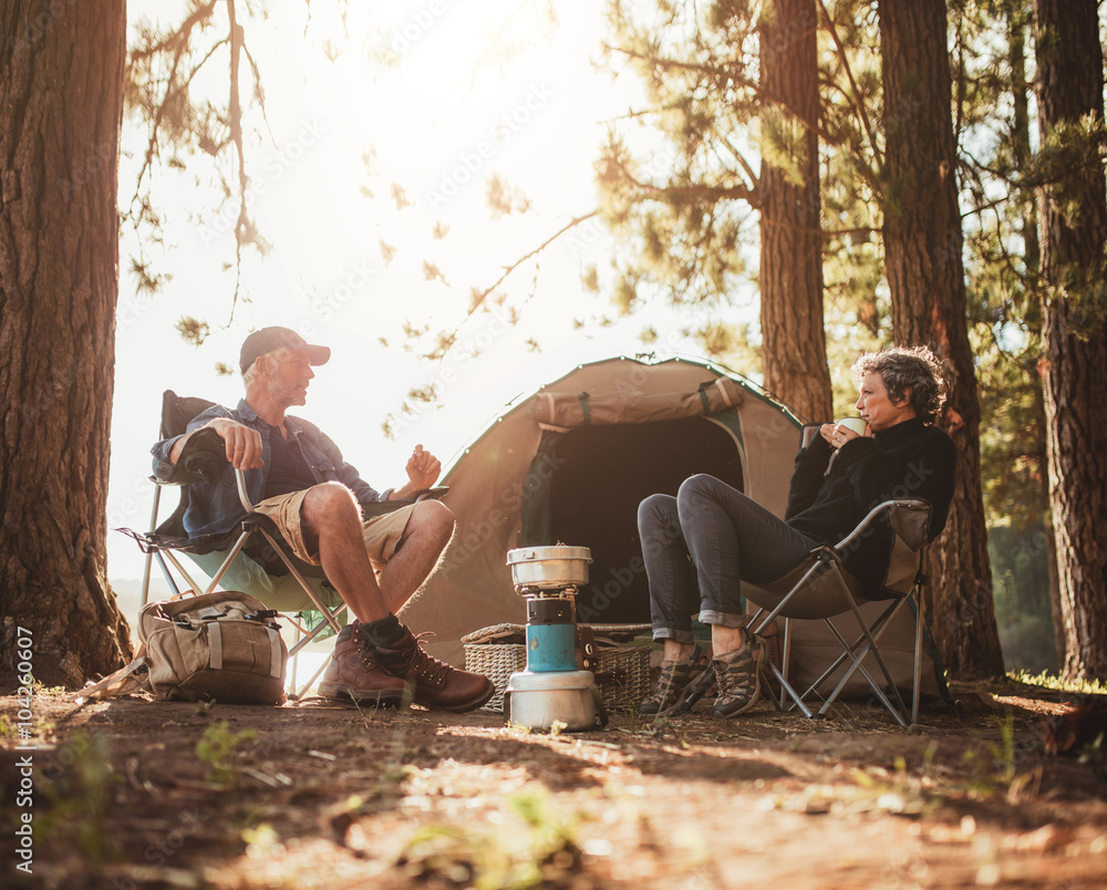
<path id="1" fill-rule="evenodd" d="M 43 692 L 30 739 L 0 697 L 0 886 L 1107 886 L 1104 762 L 1042 745 L 1077 696 L 954 692 L 911 731 L 866 705 L 808 721 L 763 703 L 558 735 L 484 711 Z"/>

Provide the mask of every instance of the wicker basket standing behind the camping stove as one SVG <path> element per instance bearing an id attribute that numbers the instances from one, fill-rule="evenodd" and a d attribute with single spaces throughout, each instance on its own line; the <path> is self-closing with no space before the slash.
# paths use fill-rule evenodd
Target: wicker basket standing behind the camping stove
<path id="1" fill-rule="evenodd" d="M 634 637 L 649 630 L 649 624 L 590 624 L 597 638 L 618 639 Z M 485 711 L 504 711 L 504 692 L 516 671 L 527 670 L 527 646 L 519 642 L 525 628 L 521 624 L 497 624 L 462 638 L 465 645 L 465 670 L 487 676 L 496 693 L 484 706 Z M 504 641 L 504 642 L 501 642 Z M 603 706 L 611 713 L 632 710 L 650 694 L 649 645 L 617 645 L 598 641 L 597 655 L 600 666 L 598 684 Z"/>

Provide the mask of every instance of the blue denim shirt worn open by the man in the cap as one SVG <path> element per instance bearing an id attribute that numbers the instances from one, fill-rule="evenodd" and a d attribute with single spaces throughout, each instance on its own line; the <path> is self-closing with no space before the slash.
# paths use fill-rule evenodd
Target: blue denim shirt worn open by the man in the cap
<path id="1" fill-rule="evenodd" d="M 263 500 L 266 477 L 269 473 L 269 431 L 272 428 L 244 399 L 235 411 L 228 411 L 223 405 L 213 405 L 203 414 L 196 415 L 188 424 L 188 433 L 204 426 L 216 417 L 228 417 L 257 430 L 261 434 L 261 459 L 265 463 L 260 469 L 246 470 L 246 491 L 251 504 Z M 340 482 L 358 499 L 359 504 L 375 504 L 386 500 L 392 489 L 376 491 L 369 483 L 358 475 L 356 468 L 342 459 L 342 453 L 318 426 L 299 417 L 284 417 L 284 426 L 300 446 L 303 459 L 311 467 L 317 483 Z M 174 443 L 180 436 L 158 442 L 152 449 L 154 455 L 154 475 L 159 479 L 168 479 L 173 474 L 169 453 Z M 189 538 L 204 535 L 226 535 L 238 527 L 246 511 L 238 500 L 238 487 L 235 483 L 235 470 L 228 463 L 216 485 L 193 483 L 188 490 L 188 509 L 185 510 L 184 524 Z"/>

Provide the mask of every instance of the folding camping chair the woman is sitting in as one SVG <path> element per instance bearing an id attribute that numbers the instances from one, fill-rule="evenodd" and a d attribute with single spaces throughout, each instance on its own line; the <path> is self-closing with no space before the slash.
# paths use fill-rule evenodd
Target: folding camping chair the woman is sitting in
<path id="1" fill-rule="evenodd" d="M 844 559 L 853 541 L 862 536 L 873 534 L 878 524 L 884 521 L 893 532 L 888 571 L 879 596 L 863 598 L 858 594 L 858 583 L 846 568 Z M 759 584 L 743 582 L 743 594 L 755 606 L 761 607 L 749 622 L 751 630 L 756 633 L 776 618 L 785 619 L 784 670 L 775 664 L 768 664 L 780 684 L 782 706 L 787 695 L 793 702 L 792 706 L 798 707 L 805 716 L 825 716 L 827 710 L 837 701 L 853 674 L 860 673 L 877 700 L 896 717 L 901 726 L 907 726 L 907 706 L 888 670 L 878 642 L 894 615 L 910 602 L 914 614 L 914 662 L 910 715 L 912 723 L 918 721 L 923 633 L 922 587 L 925 582 L 922 569 L 925 565 L 929 529 L 929 503 L 920 499 L 886 500 L 873 507 L 860 525 L 844 540 L 834 547 L 829 545 L 817 547 L 803 562 L 780 578 Z M 860 606 L 867 601 L 886 603 L 884 608 L 870 622 L 865 620 L 860 611 Z M 852 642 L 847 642 L 846 637 L 831 620 L 847 614 L 851 614 L 860 627 L 860 633 Z M 792 687 L 787 676 L 793 619 L 821 619 L 841 646 L 841 654 L 803 693 L 798 693 Z M 870 653 L 887 684 L 883 687 L 878 682 L 879 677 L 873 677 L 862 664 Z M 825 689 L 842 666 L 845 666 L 845 671 L 837 684 L 829 694 L 824 695 Z M 886 689 L 890 691 L 894 703 L 889 700 Z M 813 713 L 809 703 L 815 701 L 821 701 L 821 706 Z"/>

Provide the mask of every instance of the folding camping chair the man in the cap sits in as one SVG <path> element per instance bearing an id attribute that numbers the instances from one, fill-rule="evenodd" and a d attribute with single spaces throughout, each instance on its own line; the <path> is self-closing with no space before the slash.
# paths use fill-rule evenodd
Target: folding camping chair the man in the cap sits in
<path id="1" fill-rule="evenodd" d="M 172 390 L 166 390 L 162 396 L 161 437 L 164 439 L 183 434 L 193 417 L 213 404 L 215 403 L 203 399 L 182 397 Z M 225 590 L 249 593 L 270 609 L 281 612 L 297 632 L 297 639 L 289 649 L 289 655 L 293 659 L 290 686 L 292 697 L 301 697 L 325 665 L 320 666 L 297 691 L 296 655 L 309 643 L 325 639 L 331 632 L 337 634 L 341 630 L 345 603 L 338 591 L 327 583 L 319 567 L 297 559 L 277 534 L 272 522 L 254 511 L 254 505 L 246 491 L 245 476 L 240 469 L 235 470 L 235 478 L 238 498 L 247 515 L 239 529 L 224 536 L 203 538 L 187 536 L 183 520 L 188 507 L 188 485 L 196 482 L 217 484 L 226 465 L 227 456 L 223 439 L 215 431 L 199 431 L 186 443 L 168 478 L 151 476 L 151 482 L 154 483 L 154 505 L 149 530 L 145 534 L 132 529 L 116 530 L 134 538 L 146 555 L 142 586 L 143 606 L 149 598 L 151 571 L 156 560 L 173 591 L 174 599 L 186 596 L 189 589 L 210 593 L 221 583 Z M 162 488 L 170 485 L 179 487 L 180 501 L 173 515 L 158 525 Z M 260 535 L 269 545 L 266 556 L 271 552 L 279 562 L 258 561 L 244 550 L 256 535 Z M 177 558 L 177 553 L 182 552 L 187 553 L 210 577 L 207 584 L 197 584 L 193 580 Z M 186 586 L 184 591 L 170 571 L 170 566 L 183 579 Z"/>

